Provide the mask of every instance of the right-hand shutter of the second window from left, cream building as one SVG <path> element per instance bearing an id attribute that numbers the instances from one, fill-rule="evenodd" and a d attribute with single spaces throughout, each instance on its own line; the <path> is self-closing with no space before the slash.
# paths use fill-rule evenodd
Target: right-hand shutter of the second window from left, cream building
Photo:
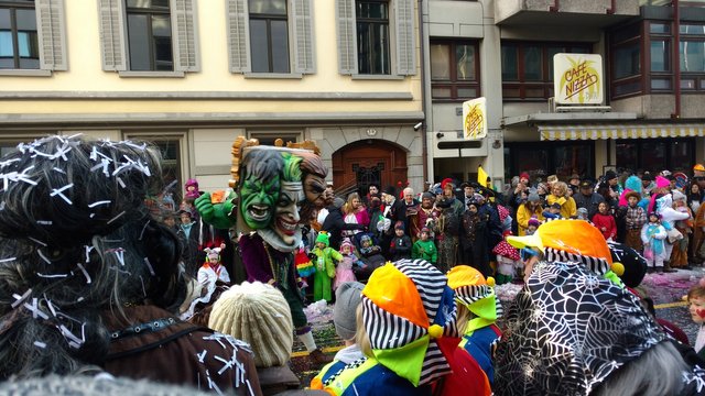
<path id="1" fill-rule="evenodd" d="M 174 70 L 198 72 L 196 10 L 194 0 L 172 0 L 172 40 Z"/>

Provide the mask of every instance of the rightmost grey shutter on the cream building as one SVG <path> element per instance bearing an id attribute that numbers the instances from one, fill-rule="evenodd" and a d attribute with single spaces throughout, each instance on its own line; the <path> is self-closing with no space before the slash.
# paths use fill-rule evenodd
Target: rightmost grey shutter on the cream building
<path id="1" fill-rule="evenodd" d="M 416 74 L 414 42 L 414 1 L 393 0 L 394 32 L 397 35 L 397 74 L 413 76 Z"/>

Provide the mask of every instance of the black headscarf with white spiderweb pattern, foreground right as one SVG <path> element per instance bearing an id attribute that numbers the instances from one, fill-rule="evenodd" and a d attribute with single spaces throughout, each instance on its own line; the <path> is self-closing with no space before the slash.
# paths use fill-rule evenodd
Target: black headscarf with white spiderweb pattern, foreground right
<path id="1" fill-rule="evenodd" d="M 665 340 L 636 296 L 576 263 L 538 263 L 496 353 L 505 395 L 588 395 Z"/>

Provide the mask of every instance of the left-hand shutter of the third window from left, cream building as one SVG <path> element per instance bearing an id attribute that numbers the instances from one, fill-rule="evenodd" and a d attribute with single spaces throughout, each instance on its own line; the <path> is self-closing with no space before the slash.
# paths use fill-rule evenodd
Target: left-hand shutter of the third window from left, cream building
<path id="1" fill-rule="evenodd" d="M 250 21 L 247 11 L 247 0 L 227 0 L 226 4 L 230 72 L 251 72 Z"/>

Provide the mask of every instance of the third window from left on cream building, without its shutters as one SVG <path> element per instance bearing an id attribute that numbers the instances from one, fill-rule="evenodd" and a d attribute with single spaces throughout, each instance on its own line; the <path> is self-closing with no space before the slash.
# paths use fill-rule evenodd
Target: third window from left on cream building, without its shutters
<path id="1" fill-rule="evenodd" d="M 249 0 L 252 72 L 289 73 L 286 0 Z"/>

